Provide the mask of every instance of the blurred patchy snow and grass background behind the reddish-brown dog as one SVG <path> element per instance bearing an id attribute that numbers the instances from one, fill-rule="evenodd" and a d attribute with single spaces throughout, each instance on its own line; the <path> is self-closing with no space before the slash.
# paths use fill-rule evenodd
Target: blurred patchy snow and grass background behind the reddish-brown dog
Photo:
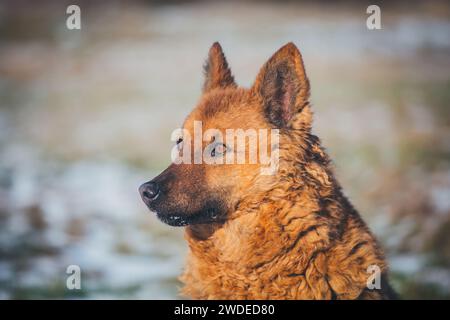
<path id="1" fill-rule="evenodd" d="M 183 230 L 137 188 L 169 164 L 214 41 L 243 86 L 297 44 L 314 131 L 393 286 L 450 298 L 450 6 L 378 3 L 368 30 L 369 4 L 0 1 L 0 298 L 179 298 Z"/>

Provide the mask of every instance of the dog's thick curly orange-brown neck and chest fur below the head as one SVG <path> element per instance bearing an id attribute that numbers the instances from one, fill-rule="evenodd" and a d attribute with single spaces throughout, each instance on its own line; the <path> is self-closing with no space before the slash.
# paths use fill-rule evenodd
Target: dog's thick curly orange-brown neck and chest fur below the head
<path id="1" fill-rule="evenodd" d="M 279 199 L 275 189 L 224 224 L 189 226 L 183 293 L 201 299 L 267 299 L 266 293 L 274 299 L 380 298 L 366 290 L 367 268 L 384 274 L 383 253 L 339 186 L 329 191 L 319 197 L 321 190 L 305 186 Z M 236 296 L 236 286 L 254 291 Z M 283 288 L 303 289 L 286 294 Z"/>

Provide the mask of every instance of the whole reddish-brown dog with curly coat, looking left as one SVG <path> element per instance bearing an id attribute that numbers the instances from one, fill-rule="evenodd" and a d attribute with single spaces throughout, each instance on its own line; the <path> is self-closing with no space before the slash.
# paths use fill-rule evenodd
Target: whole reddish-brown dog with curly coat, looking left
<path id="1" fill-rule="evenodd" d="M 310 84 L 298 48 L 279 49 L 247 89 L 236 84 L 214 43 L 204 74 L 178 150 L 195 153 L 208 142 L 210 157 L 235 152 L 220 138 L 186 143 L 201 121 L 219 132 L 278 130 L 272 152 L 279 160 L 273 174 L 261 174 L 260 163 L 172 163 L 140 186 L 160 220 L 185 227 L 181 293 L 193 299 L 395 298 L 382 249 L 311 132 Z"/>

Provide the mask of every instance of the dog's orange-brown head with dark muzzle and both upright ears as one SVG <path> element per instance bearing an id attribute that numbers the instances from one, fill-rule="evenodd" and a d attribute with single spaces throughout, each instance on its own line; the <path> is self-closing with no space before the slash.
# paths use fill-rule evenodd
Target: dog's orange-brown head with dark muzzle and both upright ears
<path id="1" fill-rule="evenodd" d="M 172 226 L 225 221 L 243 197 L 276 184 L 278 167 L 263 163 L 261 151 L 277 161 L 283 139 L 310 127 L 309 82 L 294 44 L 266 62 L 250 89 L 236 85 L 218 43 L 204 71 L 200 101 L 174 138 L 174 163 L 139 188 L 145 204 Z M 263 174 L 270 165 L 274 172 Z"/>

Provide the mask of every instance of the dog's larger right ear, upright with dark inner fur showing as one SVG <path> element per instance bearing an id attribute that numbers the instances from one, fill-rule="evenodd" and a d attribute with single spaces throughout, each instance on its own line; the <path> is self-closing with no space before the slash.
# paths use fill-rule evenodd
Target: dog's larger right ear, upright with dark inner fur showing
<path id="1" fill-rule="evenodd" d="M 279 49 L 262 67 L 252 90 L 262 98 L 270 123 L 287 127 L 308 102 L 309 81 L 300 51 L 292 43 Z"/>

